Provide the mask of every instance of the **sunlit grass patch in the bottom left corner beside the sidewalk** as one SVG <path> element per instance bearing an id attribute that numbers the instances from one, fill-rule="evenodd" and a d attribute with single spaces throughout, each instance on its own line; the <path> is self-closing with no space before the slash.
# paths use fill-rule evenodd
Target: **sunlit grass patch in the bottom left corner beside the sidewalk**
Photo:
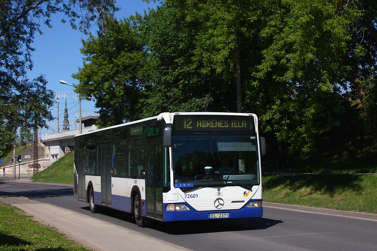
<path id="1" fill-rule="evenodd" d="M 87 251 L 53 227 L 33 221 L 17 207 L 0 201 L 0 250 L 2 251 Z"/>

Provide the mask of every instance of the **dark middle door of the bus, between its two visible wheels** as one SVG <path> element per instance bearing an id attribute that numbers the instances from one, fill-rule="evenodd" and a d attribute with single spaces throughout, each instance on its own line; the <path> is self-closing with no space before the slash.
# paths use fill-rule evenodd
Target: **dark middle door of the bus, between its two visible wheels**
<path id="1" fill-rule="evenodd" d="M 111 143 L 101 144 L 101 203 L 111 207 Z"/>

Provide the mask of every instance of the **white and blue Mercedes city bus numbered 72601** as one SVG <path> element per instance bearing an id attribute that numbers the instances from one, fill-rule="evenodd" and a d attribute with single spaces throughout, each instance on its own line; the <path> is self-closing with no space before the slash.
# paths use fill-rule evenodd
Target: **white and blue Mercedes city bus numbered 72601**
<path id="1" fill-rule="evenodd" d="M 147 219 L 262 217 L 257 116 L 161 113 L 75 136 L 74 195 Z"/>

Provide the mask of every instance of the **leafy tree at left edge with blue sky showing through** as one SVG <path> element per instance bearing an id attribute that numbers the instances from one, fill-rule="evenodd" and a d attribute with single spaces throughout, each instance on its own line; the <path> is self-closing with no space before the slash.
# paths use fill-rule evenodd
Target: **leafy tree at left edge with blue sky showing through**
<path id="1" fill-rule="evenodd" d="M 16 131 L 21 142 L 31 138 L 30 131 L 46 126 L 51 120 L 48 107 L 53 94 L 46 89 L 43 75 L 29 81 L 35 33 L 41 24 L 51 27 L 53 14 L 62 13 L 61 21 L 87 32 L 92 21 L 103 21 L 116 11 L 114 0 L 0 0 L 0 156 L 12 150 Z"/>

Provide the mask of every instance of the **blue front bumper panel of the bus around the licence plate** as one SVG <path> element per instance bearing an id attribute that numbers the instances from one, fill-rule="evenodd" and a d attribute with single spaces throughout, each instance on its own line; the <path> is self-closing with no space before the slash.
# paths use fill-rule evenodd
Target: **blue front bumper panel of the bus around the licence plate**
<path id="1" fill-rule="evenodd" d="M 164 208 L 166 208 L 166 205 L 164 204 Z M 228 211 L 164 211 L 164 221 L 208 220 L 208 215 L 211 213 L 229 213 L 228 218 L 222 219 L 262 217 L 263 208 L 242 208 L 240 210 Z"/>

